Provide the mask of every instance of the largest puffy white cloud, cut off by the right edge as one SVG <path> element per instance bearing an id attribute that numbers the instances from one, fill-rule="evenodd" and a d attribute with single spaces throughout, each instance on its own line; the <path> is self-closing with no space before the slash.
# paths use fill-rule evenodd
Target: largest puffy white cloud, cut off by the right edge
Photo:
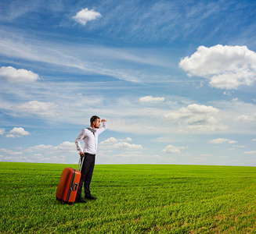
<path id="1" fill-rule="evenodd" d="M 221 89 L 249 86 L 256 80 L 256 53 L 246 46 L 200 46 L 193 55 L 182 58 L 178 66 L 189 76 L 210 79 L 212 87 Z"/>

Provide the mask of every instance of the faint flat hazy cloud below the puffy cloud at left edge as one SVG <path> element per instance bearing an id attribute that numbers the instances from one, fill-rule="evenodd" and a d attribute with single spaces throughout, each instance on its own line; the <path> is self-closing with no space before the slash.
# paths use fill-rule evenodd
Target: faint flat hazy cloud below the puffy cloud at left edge
<path id="1" fill-rule="evenodd" d="M 58 106 L 52 102 L 43 101 L 28 101 L 23 105 L 13 106 L 14 109 L 18 109 L 21 112 L 30 112 L 44 117 L 56 117 L 59 115 L 59 113 L 56 112 L 57 107 Z"/>

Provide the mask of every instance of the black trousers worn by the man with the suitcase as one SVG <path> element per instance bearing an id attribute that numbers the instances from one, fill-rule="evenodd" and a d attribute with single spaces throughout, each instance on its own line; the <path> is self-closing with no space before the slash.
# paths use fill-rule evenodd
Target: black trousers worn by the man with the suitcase
<path id="1" fill-rule="evenodd" d="M 78 198 L 81 197 L 81 189 L 82 189 L 83 183 L 85 186 L 85 196 L 91 195 L 90 183 L 92 181 L 92 172 L 95 165 L 96 155 L 85 153 L 84 157 L 85 157 L 84 163 L 81 168 L 81 179 L 78 186 L 78 193 L 77 193 Z"/>

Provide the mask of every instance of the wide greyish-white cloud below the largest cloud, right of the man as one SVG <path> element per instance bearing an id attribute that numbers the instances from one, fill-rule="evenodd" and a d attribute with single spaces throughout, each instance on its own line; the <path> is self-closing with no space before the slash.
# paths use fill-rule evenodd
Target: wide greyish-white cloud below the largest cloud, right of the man
<path id="1" fill-rule="evenodd" d="M 206 105 L 188 105 L 186 108 L 180 108 L 178 112 L 170 112 L 164 115 L 167 121 L 179 120 L 186 124 L 183 130 L 195 129 L 200 131 L 215 131 L 227 129 L 227 126 L 220 123 L 218 118 L 218 108 Z"/>

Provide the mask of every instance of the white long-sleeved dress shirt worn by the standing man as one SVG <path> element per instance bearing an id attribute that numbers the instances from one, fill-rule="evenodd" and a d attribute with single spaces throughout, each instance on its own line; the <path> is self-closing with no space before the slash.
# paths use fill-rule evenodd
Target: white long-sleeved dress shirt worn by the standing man
<path id="1" fill-rule="evenodd" d="M 98 147 L 98 136 L 100 133 L 106 130 L 106 122 L 103 122 L 103 127 L 99 129 L 92 129 L 92 127 L 88 127 L 87 129 L 82 129 L 79 134 L 75 144 L 77 146 L 77 150 L 79 153 L 84 152 L 88 154 L 96 154 Z M 84 149 L 81 147 L 81 140 L 84 140 L 85 147 Z"/>

